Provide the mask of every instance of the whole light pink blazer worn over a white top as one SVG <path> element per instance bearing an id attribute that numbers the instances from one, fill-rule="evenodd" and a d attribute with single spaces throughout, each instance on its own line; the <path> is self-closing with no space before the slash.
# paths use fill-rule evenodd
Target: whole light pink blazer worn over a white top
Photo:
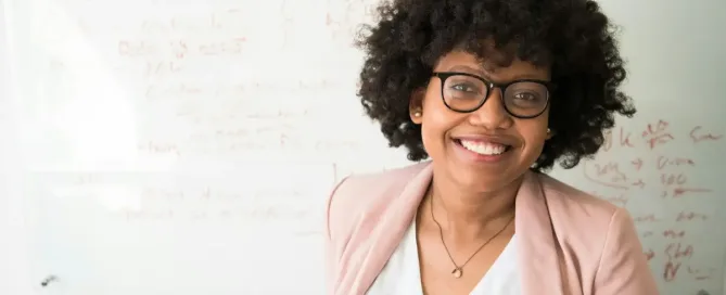
<path id="1" fill-rule="evenodd" d="M 328 294 L 368 291 L 412 222 L 431 179 L 425 162 L 337 183 L 326 217 Z M 527 172 L 515 211 L 523 295 L 659 294 L 625 209 Z"/>

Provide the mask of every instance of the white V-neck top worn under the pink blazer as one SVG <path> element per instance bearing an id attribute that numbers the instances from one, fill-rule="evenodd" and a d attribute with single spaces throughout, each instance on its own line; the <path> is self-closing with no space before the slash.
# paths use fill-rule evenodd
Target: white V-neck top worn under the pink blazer
<path id="1" fill-rule="evenodd" d="M 515 235 L 501 252 L 492 268 L 471 291 L 471 295 L 520 295 L 517 270 Z M 393 253 L 367 295 L 421 295 L 421 271 L 416 240 L 416 218 L 408 227 L 403 241 Z"/>

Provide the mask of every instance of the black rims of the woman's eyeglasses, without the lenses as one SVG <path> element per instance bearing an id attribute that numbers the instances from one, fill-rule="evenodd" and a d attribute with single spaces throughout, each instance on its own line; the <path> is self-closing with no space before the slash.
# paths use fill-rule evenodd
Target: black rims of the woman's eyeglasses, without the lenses
<path id="1" fill-rule="evenodd" d="M 469 74 L 469 73 L 462 73 L 462 72 L 434 72 L 434 73 L 432 73 L 431 76 L 432 77 L 437 77 L 441 80 L 442 101 L 444 102 L 444 105 L 446 105 L 446 107 L 448 110 L 451 110 L 453 112 L 463 113 L 463 114 L 476 112 L 476 110 L 481 108 L 489 100 L 489 95 L 492 94 L 492 90 L 494 90 L 495 88 L 498 88 L 499 91 L 501 91 L 501 95 L 500 95 L 501 105 L 504 106 L 507 114 L 509 114 L 512 117 L 520 118 L 520 119 L 536 118 L 536 117 L 540 116 L 542 114 L 544 114 L 545 111 L 547 111 L 547 107 L 549 107 L 550 93 L 557 87 L 551 81 L 539 80 L 539 79 L 519 79 L 519 80 L 513 80 L 513 81 L 509 81 L 509 82 L 505 82 L 505 84 L 496 84 L 496 82 L 488 81 L 488 80 L 486 80 L 486 79 L 484 79 L 484 78 L 482 78 L 477 75 Z M 484 82 L 484 85 L 486 86 L 486 97 L 484 97 L 482 102 L 480 102 L 479 105 L 476 105 L 472 110 L 460 111 L 460 110 L 451 108 L 451 106 L 448 105 L 448 103 L 446 102 L 446 98 L 444 95 L 444 85 L 446 85 L 446 79 L 448 79 L 449 77 L 453 77 L 453 76 L 469 76 L 469 77 L 475 78 L 475 79 Z M 545 107 L 543 107 L 539 113 L 537 113 L 535 115 L 532 115 L 532 116 L 519 116 L 519 115 L 512 114 L 512 112 L 509 111 L 509 108 L 507 107 L 507 103 L 505 102 L 505 93 L 507 93 L 507 88 L 509 86 L 511 86 L 513 84 L 518 84 L 518 82 L 535 82 L 535 84 L 539 84 L 539 85 L 545 86 L 545 88 L 547 89 L 547 98 L 546 98 L 547 102 L 545 103 Z"/>

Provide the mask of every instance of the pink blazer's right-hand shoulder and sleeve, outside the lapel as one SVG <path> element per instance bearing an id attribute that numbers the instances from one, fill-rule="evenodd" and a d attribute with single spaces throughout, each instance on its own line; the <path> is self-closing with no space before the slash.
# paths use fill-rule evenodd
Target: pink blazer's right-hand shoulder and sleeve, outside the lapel
<path id="1" fill-rule="evenodd" d="M 635 223 L 625 208 L 549 176 L 538 178 L 561 248 L 586 271 L 596 291 L 655 294 Z"/>

